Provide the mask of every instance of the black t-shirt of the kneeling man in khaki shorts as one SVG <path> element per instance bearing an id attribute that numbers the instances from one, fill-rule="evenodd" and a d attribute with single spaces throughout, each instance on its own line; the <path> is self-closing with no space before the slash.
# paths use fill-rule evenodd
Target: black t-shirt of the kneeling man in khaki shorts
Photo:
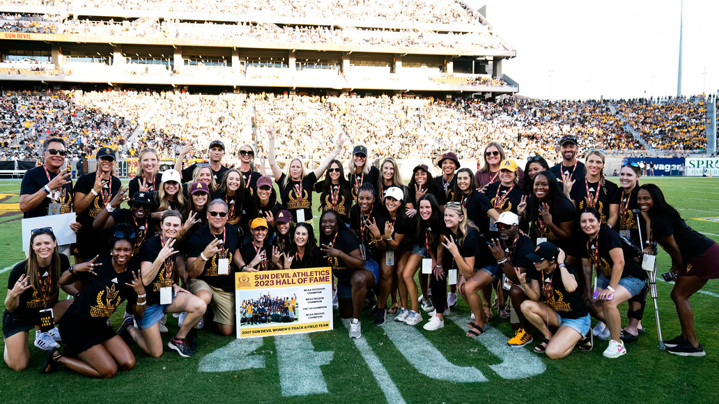
<path id="1" fill-rule="evenodd" d="M 225 225 L 223 234 L 224 248 L 212 257 L 207 257 L 209 260 L 205 261 L 204 269 L 196 279 L 205 281 L 213 288 L 219 288 L 225 292 L 232 292 L 234 290 L 234 272 L 236 270 L 232 259 L 239 248 L 239 233 L 237 232 L 237 227 Z M 198 260 L 202 260 L 200 254 L 204 251 L 205 247 L 214 239 L 223 239 L 223 234 L 212 234 L 209 225 L 202 226 L 190 239 L 190 243 L 187 247 L 187 257 L 196 257 Z M 217 274 L 218 260 L 221 258 L 227 258 L 229 260 L 229 271 L 227 275 Z"/>

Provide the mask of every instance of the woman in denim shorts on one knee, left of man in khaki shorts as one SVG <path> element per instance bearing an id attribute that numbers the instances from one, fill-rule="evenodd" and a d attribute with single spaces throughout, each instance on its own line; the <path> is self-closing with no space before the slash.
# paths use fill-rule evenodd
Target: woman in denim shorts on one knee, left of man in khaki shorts
<path id="1" fill-rule="evenodd" d="M 178 260 L 174 249 L 175 237 L 182 229 L 182 215 L 178 211 L 162 214 L 162 234 L 142 244 L 139 262 L 142 283 L 147 285 L 147 308 L 137 318 L 139 331 L 132 326 L 132 319 L 125 318 L 117 334 L 127 342 L 132 338 L 150 357 L 162 354 L 160 319 L 167 313 L 186 313 L 180 331 L 168 342 L 180 357 L 191 357 L 197 350 L 197 329 L 194 328 L 207 308 L 196 295 L 180 288 L 178 278 L 184 272 L 185 261 Z M 182 268 L 180 268 L 182 266 Z"/>

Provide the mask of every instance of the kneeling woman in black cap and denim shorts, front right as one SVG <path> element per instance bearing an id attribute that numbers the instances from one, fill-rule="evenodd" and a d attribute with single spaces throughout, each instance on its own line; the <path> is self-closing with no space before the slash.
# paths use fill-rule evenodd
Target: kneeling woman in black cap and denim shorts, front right
<path id="1" fill-rule="evenodd" d="M 550 242 L 543 242 L 527 258 L 534 262 L 539 280 L 532 279 L 530 286 L 525 273 L 519 270 L 516 273 L 529 298 L 522 302 L 522 313 L 544 334 L 544 341 L 534 351 L 545 352 L 549 359 L 561 359 L 572 352 L 577 342 L 582 350 L 592 349 L 591 339 L 582 339 L 589 332 L 589 309 L 582 300 L 576 272 L 564 264 L 564 252 Z M 558 330 L 552 335 L 549 327 Z"/>

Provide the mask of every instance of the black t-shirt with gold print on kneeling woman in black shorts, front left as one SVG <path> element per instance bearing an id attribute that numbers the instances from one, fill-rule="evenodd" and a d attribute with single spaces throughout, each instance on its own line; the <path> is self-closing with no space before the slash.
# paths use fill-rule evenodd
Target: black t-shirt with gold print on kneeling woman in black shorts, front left
<path id="1" fill-rule="evenodd" d="M 133 304 L 137 302 L 137 293 L 126 283 L 132 283 L 132 272 L 137 272 L 138 268 L 127 267 L 123 272 L 117 273 L 110 258 L 99 258 L 95 265 L 94 272 L 97 275 L 77 272 L 73 277 L 73 280 L 83 281 L 83 289 L 65 312 L 63 321 L 65 318 L 74 317 L 88 326 L 101 326 L 124 300 L 127 299 Z"/>

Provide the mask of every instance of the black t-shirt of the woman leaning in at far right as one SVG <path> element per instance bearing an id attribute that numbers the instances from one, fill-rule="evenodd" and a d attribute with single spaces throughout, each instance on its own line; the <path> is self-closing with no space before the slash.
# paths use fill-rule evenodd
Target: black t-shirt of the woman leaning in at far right
<path id="1" fill-rule="evenodd" d="M 651 235 L 654 241 L 659 245 L 661 245 L 661 239 L 674 235 L 674 242 L 677 242 L 684 261 L 702 254 L 714 244 L 712 239 L 692 229 L 684 221 L 672 221 L 667 216 L 651 215 L 649 226 L 651 226 Z M 666 249 L 663 245 L 661 247 Z"/>

